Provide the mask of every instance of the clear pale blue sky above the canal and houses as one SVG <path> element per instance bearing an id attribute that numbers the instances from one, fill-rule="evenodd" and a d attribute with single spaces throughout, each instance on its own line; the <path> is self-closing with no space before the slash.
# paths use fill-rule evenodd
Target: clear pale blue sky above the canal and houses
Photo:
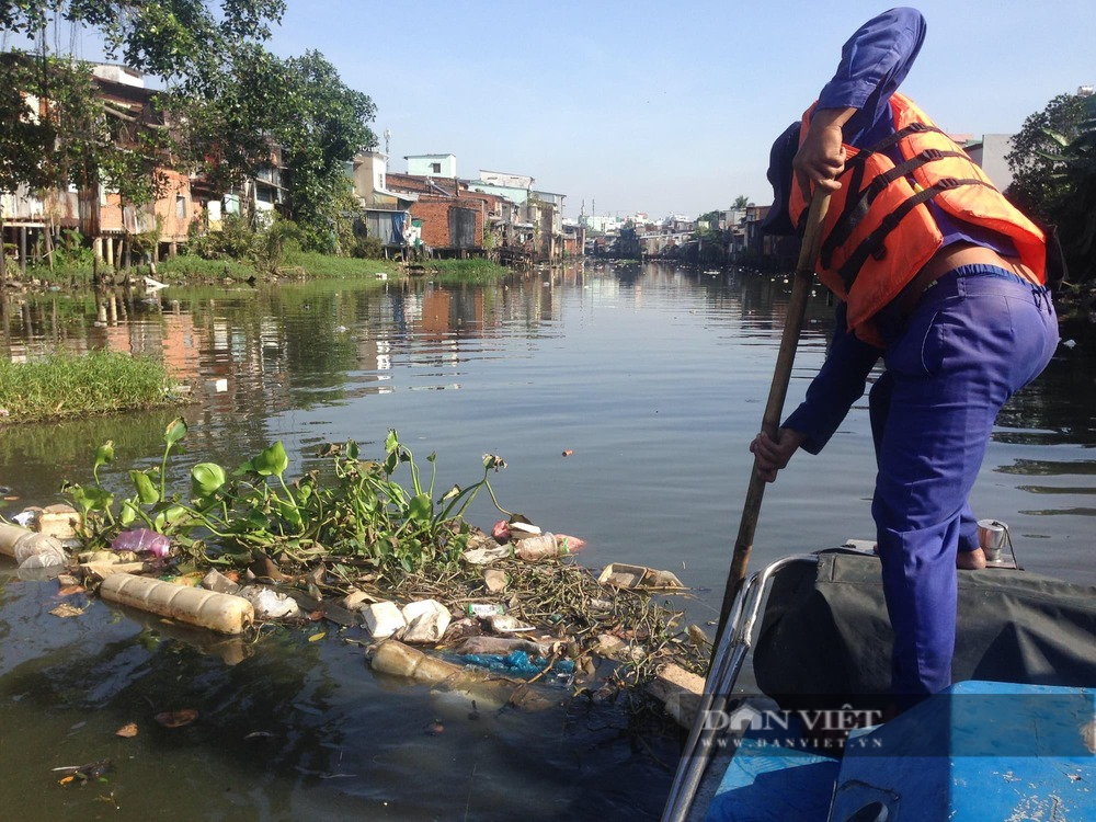
<path id="1" fill-rule="evenodd" d="M 270 47 L 319 50 L 377 105 L 403 158 L 529 174 L 564 213 L 697 215 L 767 203 L 773 138 L 814 99 L 856 27 L 845 0 L 288 0 Z M 1096 83 L 1092 0 L 923 0 L 903 91 L 946 130 L 1015 133 Z"/>

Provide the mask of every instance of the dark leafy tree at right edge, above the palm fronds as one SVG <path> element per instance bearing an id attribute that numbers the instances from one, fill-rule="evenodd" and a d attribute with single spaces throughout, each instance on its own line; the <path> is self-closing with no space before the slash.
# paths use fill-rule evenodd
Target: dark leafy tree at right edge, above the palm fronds
<path id="1" fill-rule="evenodd" d="M 1005 156 L 1013 172 L 1005 193 L 1023 212 L 1053 221 L 1051 204 L 1061 196 L 1064 181 L 1057 175 L 1062 146 L 1050 135 L 1060 135 L 1069 144 L 1081 134 L 1088 116 L 1085 98 L 1059 94 L 1024 121 L 1013 137 L 1013 150 Z"/>

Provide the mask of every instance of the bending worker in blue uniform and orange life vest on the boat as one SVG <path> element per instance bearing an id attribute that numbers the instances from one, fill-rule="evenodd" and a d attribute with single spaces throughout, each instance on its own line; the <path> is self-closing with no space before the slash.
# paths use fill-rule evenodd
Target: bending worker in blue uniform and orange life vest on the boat
<path id="1" fill-rule="evenodd" d="M 1058 345 L 1041 232 L 975 172 L 931 184 L 939 158 L 917 160 L 910 148 L 926 134 L 947 140 L 934 145 L 950 146 L 898 92 L 925 31 L 921 13 L 906 8 L 864 24 L 814 107 L 774 145 L 769 180 L 777 199 L 766 229 L 791 233 L 802 204 L 818 190 L 831 192 L 823 255 L 838 248 L 841 256 L 844 237 L 860 243 L 844 252 L 861 267 L 826 270 L 820 261 L 822 282 L 844 298 L 826 361 L 776 438 L 762 433 L 750 446 L 755 469 L 769 482 L 800 448 L 817 454 L 883 359 L 886 370 L 869 395 L 877 461 L 871 512 L 894 630 L 899 709 L 951 684 L 956 569 L 985 564 L 968 495 L 997 412 L 1042 372 Z M 928 125 L 899 125 L 911 118 Z M 958 147 L 937 153 L 952 164 L 969 162 Z M 853 167 L 880 158 L 894 171 L 880 174 L 886 179 L 867 195 L 875 172 L 861 169 L 858 178 Z M 884 197 L 876 195 L 892 180 L 909 183 L 909 204 L 895 208 L 892 199 L 889 224 L 881 220 L 867 239 L 847 240 L 855 220 L 872 219 L 865 215 L 878 210 Z M 968 208 L 963 198 L 974 205 Z M 913 212 L 927 219 L 917 222 Z M 843 219 L 853 222 L 842 228 Z M 917 263 L 903 269 L 899 260 Z M 870 290 L 872 278 L 881 285 Z M 858 296 L 866 292 L 877 296 Z"/>

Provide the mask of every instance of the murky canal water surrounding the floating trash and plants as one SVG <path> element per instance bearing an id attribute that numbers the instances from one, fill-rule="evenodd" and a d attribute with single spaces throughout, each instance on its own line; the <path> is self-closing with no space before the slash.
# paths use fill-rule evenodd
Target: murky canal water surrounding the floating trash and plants
<path id="1" fill-rule="evenodd" d="M 155 299 L 49 295 L 9 306 L 0 355 L 163 357 L 199 400 L 182 411 L 178 471 L 233 466 L 281 439 L 296 476 L 324 443 L 379 454 L 390 427 L 418 461 L 436 454 L 436 488 L 473 482 L 495 454 L 503 506 L 585 539 L 591 567 L 673 571 L 693 589 L 677 606 L 711 632 L 789 294 L 785 276 L 587 261 L 489 284 L 370 274 Z M 820 289 L 789 407 L 824 357 L 830 316 Z M 1075 344 L 998 419 L 972 502 L 1009 525 L 1025 568 L 1094 583 L 1096 335 L 1083 322 L 1063 339 Z M 159 461 L 175 413 L 2 431 L 9 515 L 60 501 L 64 480 L 89 482 L 106 439 L 110 471 Z M 767 489 L 751 569 L 870 538 L 872 468 L 865 400 L 822 455 L 798 456 Z M 486 499 L 469 513 L 482 527 L 498 516 Z M 10 819 L 624 820 L 657 815 L 673 777 L 676 734 L 619 707 L 472 711 L 375 675 L 334 631 L 243 649 L 99 601 L 61 618 L 57 584 L 10 564 L 0 583 Z M 182 708 L 198 721 L 152 719 Z M 115 737 L 127 722 L 138 735 Z M 100 760 L 112 762 L 102 781 L 60 786 L 52 770 Z"/>

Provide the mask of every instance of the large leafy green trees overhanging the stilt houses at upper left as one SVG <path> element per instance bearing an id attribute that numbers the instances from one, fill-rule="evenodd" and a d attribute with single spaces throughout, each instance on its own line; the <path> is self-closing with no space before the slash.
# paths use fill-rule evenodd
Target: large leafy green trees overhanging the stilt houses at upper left
<path id="1" fill-rule="evenodd" d="M 265 48 L 284 11 L 284 0 L 0 0 L 0 27 L 35 38 L 42 50 L 24 56 L 21 85 L 0 90 L 0 116 L 15 124 L 0 136 L 0 187 L 109 180 L 125 202 L 137 204 L 157 195 L 158 170 L 170 158 L 221 193 L 271 165 L 281 150 L 292 181 L 287 216 L 301 225 L 306 244 L 330 248 L 354 202 L 346 195 L 344 163 L 376 145 L 368 125 L 376 107 L 347 88 L 320 53 L 282 60 Z M 95 134 L 60 140 L 66 150 L 82 147 L 79 162 L 69 156 L 38 162 L 62 136 L 60 124 L 73 123 L 66 106 L 75 93 L 62 95 L 56 80 L 48 88 L 30 82 L 35 60 L 52 59 L 48 27 L 65 23 L 96 31 L 109 57 L 162 81 L 153 102 L 165 128 L 122 134 L 119 121 L 101 104 L 98 111 L 81 109 L 80 128 Z M 54 62 L 61 77 L 60 61 Z M 69 65 L 72 77 L 85 72 Z M 75 88 L 72 77 L 65 79 Z M 54 99 L 57 122 L 34 122 L 21 92 Z"/>

